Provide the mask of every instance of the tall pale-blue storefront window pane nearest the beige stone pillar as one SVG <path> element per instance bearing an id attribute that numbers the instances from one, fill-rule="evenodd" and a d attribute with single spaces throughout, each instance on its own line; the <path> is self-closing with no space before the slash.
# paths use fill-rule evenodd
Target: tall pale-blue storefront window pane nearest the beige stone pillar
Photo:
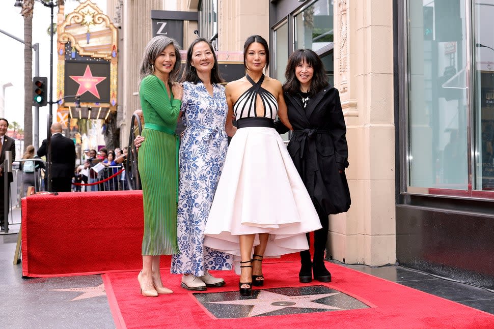
<path id="1" fill-rule="evenodd" d="M 464 3 L 408 2 L 408 192 L 468 189 Z"/>

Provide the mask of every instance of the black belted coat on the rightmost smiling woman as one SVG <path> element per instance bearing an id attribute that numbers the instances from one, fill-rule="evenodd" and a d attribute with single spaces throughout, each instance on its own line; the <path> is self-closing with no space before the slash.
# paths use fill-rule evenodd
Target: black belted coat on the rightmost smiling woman
<path id="1" fill-rule="evenodd" d="M 297 95 L 284 96 L 293 127 L 288 153 L 312 202 L 328 215 L 348 211 L 351 200 L 344 171 L 348 145 L 338 90 L 328 85 L 309 99 L 306 108 Z M 275 126 L 280 133 L 288 130 L 279 121 Z"/>

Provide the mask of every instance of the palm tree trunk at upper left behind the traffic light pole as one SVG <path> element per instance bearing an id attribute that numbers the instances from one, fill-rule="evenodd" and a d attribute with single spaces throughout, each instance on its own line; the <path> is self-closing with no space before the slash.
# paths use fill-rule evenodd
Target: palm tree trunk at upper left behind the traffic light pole
<path id="1" fill-rule="evenodd" d="M 34 0 L 22 2 L 24 17 L 24 148 L 33 144 L 33 8 Z M 25 150 L 24 150 L 25 151 Z"/>

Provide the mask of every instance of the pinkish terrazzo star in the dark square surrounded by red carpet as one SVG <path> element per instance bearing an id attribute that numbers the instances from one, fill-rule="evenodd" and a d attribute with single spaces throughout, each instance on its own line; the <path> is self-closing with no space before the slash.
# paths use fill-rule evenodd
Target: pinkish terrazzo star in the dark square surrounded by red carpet
<path id="1" fill-rule="evenodd" d="M 315 295 L 287 296 L 281 293 L 261 290 L 257 298 L 251 300 L 237 300 L 224 302 L 209 302 L 210 304 L 230 304 L 230 305 L 252 305 L 254 306 L 246 317 L 261 315 L 264 313 L 281 310 L 287 307 L 306 308 L 306 309 L 326 309 L 326 310 L 343 310 L 341 308 L 324 305 L 313 302 L 319 298 L 334 296 L 340 292 L 321 293 Z"/>

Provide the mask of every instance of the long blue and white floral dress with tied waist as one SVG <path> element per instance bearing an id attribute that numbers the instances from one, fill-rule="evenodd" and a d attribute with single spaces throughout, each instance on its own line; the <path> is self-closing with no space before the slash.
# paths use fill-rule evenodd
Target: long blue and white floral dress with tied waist
<path id="1" fill-rule="evenodd" d="M 200 277 L 205 270 L 231 270 L 232 256 L 204 247 L 204 227 L 228 147 L 225 87 L 213 84 L 213 97 L 202 82 L 183 83 L 184 134 L 180 144 L 177 241 L 171 273 Z"/>

